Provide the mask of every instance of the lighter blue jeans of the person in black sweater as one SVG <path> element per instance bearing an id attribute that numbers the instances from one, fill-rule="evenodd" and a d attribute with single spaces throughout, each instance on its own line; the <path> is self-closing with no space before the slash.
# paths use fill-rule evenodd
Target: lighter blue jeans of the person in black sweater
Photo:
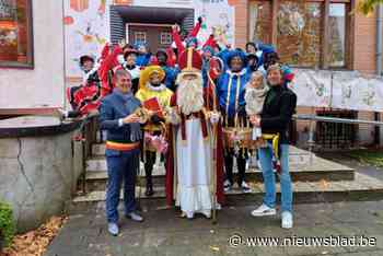
<path id="1" fill-rule="evenodd" d="M 280 146 L 280 191 L 281 211 L 292 212 L 292 185 L 289 173 L 289 144 Z M 264 203 L 270 208 L 276 207 L 276 176 L 272 172 L 272 148 L 268 144 L 259 149 L 259 161 L 265 183 Z"/>

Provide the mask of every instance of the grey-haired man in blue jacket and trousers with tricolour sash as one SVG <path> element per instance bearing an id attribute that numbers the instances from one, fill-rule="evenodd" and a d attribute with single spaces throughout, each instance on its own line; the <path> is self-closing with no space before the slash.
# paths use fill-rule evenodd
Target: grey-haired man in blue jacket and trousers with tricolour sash
<path id="1" fill-rule="evenodd" d="M 136 175 L 139 170 L 140 118 L 136 110 L 141 106 L 131 92 L 131 75 L 116 71 L 116 88 L 103 98 L 100 107 L 101 129 L 107 130 L 106 163 L 108 183 L 106 188 L 106 218 L 108 232 L 118 235 L 118 202 L 124 181 L 125 216 L 134 221 L 143 221 L 137 213 L 135 199 Z"/>

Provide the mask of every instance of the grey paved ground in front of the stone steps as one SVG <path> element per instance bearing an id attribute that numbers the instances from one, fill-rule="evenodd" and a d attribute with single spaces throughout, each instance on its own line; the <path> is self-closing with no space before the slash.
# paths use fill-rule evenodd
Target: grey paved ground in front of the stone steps
<path id="1" fill-rule="evenodd" d="M 352 165 L 361 172 L 378 178 L 383 171 L 339 158 L 343 164 Z M 254 205 L 256 202 L 254 201 Z M 254 206 L 235 202 L 218 213 L 218 224 L 196 217 L 195 220 L 181 219 L 175 209 L 164 209 L 163 202 L 143 206 L 146 221 L 135 223 L 121 220 L 118 237 L 107 234 L 104 209 L 100 203 L 88 209 L 86 213 L 71 216 L 59 235 L 46 253 L 47 256 L 119 256 L 119 255 L 383 255 L 383 201 L 307 203 L 294 206 L 294 228 L 282 230 L 280 217 L 253 218 Z M 231 241 L 242 237 L 243 245 L 230 246 Z M 341 236 L 345 246 L 335 246 Z M 346 246 L 347 243 L 363 242 L 374 246 Z M 248 241 L 247 237 L 264 237 L 263 241 Z M 267 237 L 274 237 L 268 240 Z M 265 246 L 259 243 L 291 242 L 301 246 Z M 333 246 L 305 246 L 314 237 L 326 238 Z M 277 241 L 279 238 L 279 241 Z M 347 241 L 347 238 L 349 238 Z M 255 243 L 258 243 L 255 245 Z"/>

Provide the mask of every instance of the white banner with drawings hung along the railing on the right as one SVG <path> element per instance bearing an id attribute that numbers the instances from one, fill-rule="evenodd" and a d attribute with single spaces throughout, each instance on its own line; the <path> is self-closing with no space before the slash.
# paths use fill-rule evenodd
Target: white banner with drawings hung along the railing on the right
<path id="1" fill-rule="evenodd" d="M 294 70 L 299 106 L 383 112 L 383 78 L 357 71 Z"/>

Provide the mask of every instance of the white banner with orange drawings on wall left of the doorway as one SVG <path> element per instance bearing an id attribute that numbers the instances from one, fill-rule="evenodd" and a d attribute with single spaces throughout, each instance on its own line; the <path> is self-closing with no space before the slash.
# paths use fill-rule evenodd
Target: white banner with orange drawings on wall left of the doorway
<path id="1" fill-rule="evenodd" d="M 82 77 L 80 56 L 98 57 L 108 40 L 111 3 L 112 0 L 65 0 L 67 77 Z"/>

